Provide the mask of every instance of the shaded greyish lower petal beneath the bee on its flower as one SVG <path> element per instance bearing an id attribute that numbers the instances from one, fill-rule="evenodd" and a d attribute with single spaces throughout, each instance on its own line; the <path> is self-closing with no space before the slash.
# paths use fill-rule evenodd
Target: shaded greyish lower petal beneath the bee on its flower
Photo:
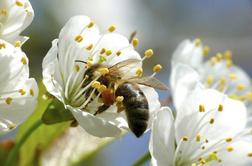
<path id="1" fill-rule="evenodd" d="M 68 107 L 79 125 L 89 134 L 97 137 L 115 137 L 121 134 L 121 129 L 109 121 L 96 117 L 90 113 Z"/>

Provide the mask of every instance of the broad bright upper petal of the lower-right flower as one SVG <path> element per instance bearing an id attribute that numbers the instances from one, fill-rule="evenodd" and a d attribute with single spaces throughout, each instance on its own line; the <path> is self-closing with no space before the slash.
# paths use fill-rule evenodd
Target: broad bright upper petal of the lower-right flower
<path id="1" fill-rule="evenodd" d="M 220 104 L 223 106 L 221 112 L 218 111 Z M 199 105 L 204 105 L 205 112 L 199 112 Z M 232 100 L 216 90 L 199 87 L 188 96 L 177 113 L 177 140 L 183 136 L 195 139 L 198 133 L 210 142 L 233 137 L 245 128 L 246 111 L 242 102 Z M 210 124 L 212 118 L 214 123 Z"/>

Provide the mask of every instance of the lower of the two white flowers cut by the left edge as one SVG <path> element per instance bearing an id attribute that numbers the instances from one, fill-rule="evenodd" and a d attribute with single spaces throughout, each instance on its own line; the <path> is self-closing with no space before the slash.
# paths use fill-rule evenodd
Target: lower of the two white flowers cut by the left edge
<path id="1" fill-rule="evenodd" d="M 0 132 L 7 132 L 33 112 L 38 87 L 36 81 L 29 78 L 25 53 L 1 39 L 0 68 Z"/>

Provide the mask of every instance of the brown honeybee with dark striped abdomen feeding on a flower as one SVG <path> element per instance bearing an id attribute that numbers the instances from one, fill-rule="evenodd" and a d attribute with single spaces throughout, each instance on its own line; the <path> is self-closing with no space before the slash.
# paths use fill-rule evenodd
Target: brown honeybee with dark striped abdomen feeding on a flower
<path id="1" fill-rule="evenodd" d="M 76 62 L 83 62 L 77 60 Z M 84 73 L 84 77 L 88 76 L 88 79 L 84 81 L 83 87 L 90 84 L 95 78 L 95 72 L 101 68 L 107 68 L 108 73 L 101 75 L 97 81 L 107 88 L 101 92 L 100 99 L 103 105 L 98 107 L 98 110 L 94 115 L 100 114 L 106 111 L 111 105 L 116 103 L 117 112 L 125 110 L 127 122 L 130 130 L 136 137 L 140 137 L 148 127 L 149 120 L 149 105 L 146 96 L 141 90 L 139 85 L 144 85 L 160 90 L 167 90 L 167 86 L 157 80 L 155 77 L 138 77 L 138 76 L 125 76 L 125 72 L 122 72 L 123 68 L 129 68 L 131 65 L 140 63 L 138 59 L 128 59 L 116 63 L 115 65 L 108 67 L 102 64 L 91 65 Z M 92 87 L 88 89 L 86 95 L 90 95 L 93 90 Z M 99 92 L 96 91 L 96 94 Z"/>

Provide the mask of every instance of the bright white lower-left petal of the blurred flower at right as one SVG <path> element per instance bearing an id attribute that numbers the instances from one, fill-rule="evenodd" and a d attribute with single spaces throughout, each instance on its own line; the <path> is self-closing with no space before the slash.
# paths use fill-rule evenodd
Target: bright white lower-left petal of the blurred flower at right
<path id="1" fill-rule="evenodd" d="M 172 66 L 170 84 L 174 106 L 178 111 L 180 106 L 183 105 L 183 101 L 187 98 L 199 81 L 200 78 L 198 73 L 190 66 L 180 63 Z"/>

